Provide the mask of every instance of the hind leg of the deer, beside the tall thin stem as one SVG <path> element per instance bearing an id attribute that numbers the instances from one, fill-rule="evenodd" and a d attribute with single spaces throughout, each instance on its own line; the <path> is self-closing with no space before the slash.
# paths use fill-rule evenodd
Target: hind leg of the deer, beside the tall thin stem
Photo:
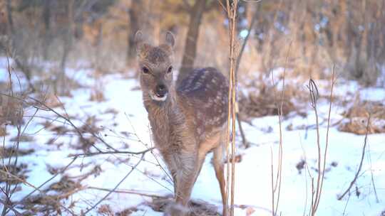
<path id="1" fill-rule="evenodd" d="M 223 161 L 223 153 L 225 151 L 225 141 L 220 140 L 220 144 L 214 148 L 212 165 L 214 166 L 215 175 L 217 176 L 218 183 L 220 185 L 220 193 L 222 195 L 223 204 L 223 216 L 226 216 L 226 182 L 225 182 L 225 163 Z"/>

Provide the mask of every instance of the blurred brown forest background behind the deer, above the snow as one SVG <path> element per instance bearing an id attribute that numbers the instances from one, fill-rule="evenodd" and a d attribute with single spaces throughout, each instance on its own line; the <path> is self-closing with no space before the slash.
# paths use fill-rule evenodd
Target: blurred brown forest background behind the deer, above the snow
<path id="1" fill-rule="evenodd" d="M 39 76 L 66 94 L 66 67 L 91 66 L 96 75 L 135 68 L 138 30 L 155 41 L 175 33 L 181 71 L 193 65 L 228 71 L 228 22 L 217 0 L 1 0 L 0 10 L 0 55 L 14 58 L 33 89 Z M 238 50 L 250 33 L 241 85 L 279 67 L 326 78 L 334 64 L 339 76 L 384 85 L 385 1 L 240 1 L 238 10 Z M 48 73 L 41 70 L 47 62 Z"/>

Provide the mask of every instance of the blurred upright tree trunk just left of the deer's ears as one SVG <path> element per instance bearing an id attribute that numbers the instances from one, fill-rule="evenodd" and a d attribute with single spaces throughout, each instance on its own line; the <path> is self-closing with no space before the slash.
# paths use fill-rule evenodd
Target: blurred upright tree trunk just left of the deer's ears
<path id="1" fill-rule="evenodd" d="M 135 33 L 140 30 L 140 13 L 142 4 L 140 1 L 132 1 L 131 7 L 128 10 L 128 22 L 130 26 L 128 28 L 128 47 L 127 47 L 127 57 L 126 63 L 130 63 L 131 60 L 135 59 L 136 49 L 135 49 Z"/>

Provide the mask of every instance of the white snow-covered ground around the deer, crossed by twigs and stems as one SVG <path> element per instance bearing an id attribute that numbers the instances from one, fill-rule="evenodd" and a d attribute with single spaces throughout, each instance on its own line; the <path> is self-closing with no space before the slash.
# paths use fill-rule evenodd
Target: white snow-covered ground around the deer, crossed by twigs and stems
<path id="1" fill-rule="evenodd" d="M 0 66 L 0 80 L 4 82 L 8 79 L 4 60 L 1 61 Z M 59 97 L 63 107 L 56 107 L 57 112 L 68 115 L 78 128 L 87 129 L 84 127 L 85 123 L 94 122 L 97 134 L 119 151 L 137 152 L 153 146 L 147 113 L 143 107 L 136 80 L 118 74 L 101 77 L 100 79 L 103 80 L 101 92 L 105 100 L 96 102 L 91 101 L 92 88 L 95 87 L 94 82 L 96 82 L 93 80 L 92 70 L 68 70 L 68 75 L 76 77 L 76 81 L 83 87 L 71 90 L 72 97 Z M 336 94 L 343 96 L 347 95 L 347 92 L 356 92 L 358 85 L 354 82 L 344 85 L 337 83 L 336 88 Z M 384 89 L 368 88 L 361 90 L 360 94 L 361 99 L 384 103 Z M 322 149 L 326 143 L 327 121 L 324 120 L 327 119 L 328 108 L 327 100 L 320 99 L 318 110 Z M 347 107 L 332 106 L 332 125 L 342 119 L 342 112 L 346 109 Z M 28 122 L 29 117 L 36 112 L 36 108 L 26 107 L 24 111 L 25 121 Z M 309 215 L 309 206 L 312 202 L 310 175 L 314 178 L 314 183 L 317 180 L 318 151 L 317 133 L 314 127 L 315 115 L 309 106 L 306 117 L 289 116 L 282 121 L 282 188 L 278 212 L 282 212 L 282 215 Z M 53 129 L 55 126 L 56 129 Z M 65 126 L 71 131 L 58 135 L 58 126 Z M 245 123 L 242 126 L 247 139 L 251 142 L 251 147 L 237 149 L 241 160 L 236 163 L 235 170 L 235 204 L 237 206 L 235 215 L 271 215 L 271 163 L 273 161 L 274 172 L 276 172 L 279 149 L 278 117 L 256 118 L 252 124 Z M 10 140 L 16 135 L 16 129 L 12 126 L 7 126 L 6 129 L 8 135 L 5 137 L 5 145 L 11 146 L 13 142 Z M 63 168 L 71 163 L 74 158 L 71 155 L 83 153 L 83 150 L 78 148 L 84 144 L 79 141 L 78 135 L 72 129 L 68 122 L 57 119 L 52 112 L 39 109 L 24 132 L 33 139 L 23 141 L 19 146 L 21 149 L 34 149 L 33 153 L 19 156 L 18 159 L 18 163 L 27 165 L 26 182 L 36 187 L 41 185 L 53 176 L 52 170 Z M 86 139 L 91 139 L 90 134 L 86 133 L 84 136 Z M 240 140 L 240 137 L 237 139 Z M 241 142 L 238 141 L 238 143 Z M 111 151 L 98 140 L 95 140 L 95 146 L 102 151 Z M 330 128 L 327 172 L 317 215 L 385 214 L 385 134 L 368 135 L 361 174 L 350 193 L 342 200 L 337 200 L 354 178 L 363 146 L 364 135 L 341 132 L 337 130 L 337 126 Z M 92 146 L 87 149 L 97 152 Z M 149 203 L 156 196 L 171 196 L 173 184 L 164 171 L 165 165 L 158 151 L 145 153 L 144 160 L 138 163 L 140 156 L 117 153 L 79 156 L 66 171 L 43 185 L 40 190 L 45 191 L 50 188 L 50 185 L 52 189 L 52 185 L 63 180 L 64 175 L 73 182 L 84 176 L 80 181 L 81 186 L 77 187 L 78 190 L 71 192 L 67 199 L 61 200 L 63 206 L 68 207 L 75 215 L 80 215 L 101 200 L 108 193 L 106 190 L 113 189 L 124 178 L 116 189 L 120 193 L 108 195 L 108 198 L 89 212 L 89 215 L 101 215 L 103 213 L 101 206 L 108 206 L 108 209 L 114 213 L 130 208 L 132 215 L 163 215 L 162 212 L 155 212 Z M 206 158 L 195 183 L 192 199 L 215 205 L 220 212 L 222 202 L 210 163 L 211 157 L 210 153 Z M 301 161 L 306 161 L 306 166 L 299 170 L 297 165 Z M 130 173 L 136 163 L 138 166 Z M 87 173 L 91 175 L 86 175 Z M 128 177 L 125 178 L 125 175 Z M 4 183 L 0 185 L 3 186 Z M 21 184 L 20 190 L 16 191 L 12 200 L 17 202 L 33 191 L 34 188 L 31 185 Z M 49 195 L 55 193 L 55 190 L 46 191 Z M 22 205 L 17 205 L 16 210 L 26 211 Z M 62 215 L 70 215 L 63 208 L 61 211 Z"/>

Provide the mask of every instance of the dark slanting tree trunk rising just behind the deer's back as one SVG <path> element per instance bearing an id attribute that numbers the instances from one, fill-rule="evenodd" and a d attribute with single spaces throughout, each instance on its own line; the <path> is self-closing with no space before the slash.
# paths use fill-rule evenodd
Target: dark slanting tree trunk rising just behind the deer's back
<path id="1" fill-rule="evenodd" d="M 183 53 L 178 82 L 182 81 L 194 66 L 194 60 L 197 53 L 199 27 L 202 21 L 203 12 L 205 11 L 205 6 L 206 0 L 196 0 L 193 9 L 190 12 L 190 23 L 188 24 L 188 33 L 185 41 L 185 53 Z"/>

